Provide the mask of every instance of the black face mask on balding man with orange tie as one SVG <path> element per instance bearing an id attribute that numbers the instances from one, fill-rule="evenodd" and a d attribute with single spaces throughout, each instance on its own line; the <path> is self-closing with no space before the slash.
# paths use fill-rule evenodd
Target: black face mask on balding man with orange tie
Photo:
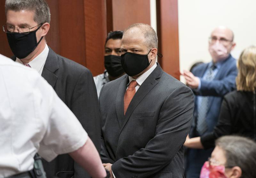
<path id="1" fill-rule="evenodd" d="M 150 64 L 148 62 L 148 54 L 142 55 L 142 54 L 135 54 L 130 52 L 126 52 L 122 54 L 121 63 L 125 73 L 129 76 L 140 74 L 140 72 L 142 72 Z"/>

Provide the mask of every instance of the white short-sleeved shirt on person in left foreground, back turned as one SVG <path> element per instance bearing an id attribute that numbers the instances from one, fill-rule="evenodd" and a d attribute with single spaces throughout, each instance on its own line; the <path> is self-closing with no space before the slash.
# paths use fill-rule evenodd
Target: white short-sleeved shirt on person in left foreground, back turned
<path id="1" fill-rule="evenodd" d="M 0 178 L 29 171 L 38 152 L 51 161 L 82 147 L 87 133 L 33 69 L 0 54 Z"/>

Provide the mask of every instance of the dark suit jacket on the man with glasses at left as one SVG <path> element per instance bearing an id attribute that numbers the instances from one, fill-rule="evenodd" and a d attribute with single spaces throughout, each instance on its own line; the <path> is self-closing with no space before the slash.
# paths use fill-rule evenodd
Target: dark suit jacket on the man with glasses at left
<path id="1" fill-rule="evenodd" d="M 16 57 L 12 59 L 15 61 Z M 75 114 L 100 151 L 100 112 L 90 70 L 56 54 L 49 47 L 42 76 Z M 47 177 L 90 177 L 68 154 L 59 155 L 50 163 L 43 160 L 43 163 Z"/>

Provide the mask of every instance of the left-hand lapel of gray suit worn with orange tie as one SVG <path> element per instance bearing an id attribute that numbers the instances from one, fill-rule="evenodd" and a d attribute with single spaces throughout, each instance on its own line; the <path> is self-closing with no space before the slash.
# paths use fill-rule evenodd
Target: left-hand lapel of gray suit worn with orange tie
<path id="1" fill-rule="evenodd" d="M 124 93 L 126 91 L 128 82 L 129 82 L 129 77 L 128 75 L 125 75 L 117 91 L 116 114 L 117 114 L 117 121 L 118 121 L 119 127 L 121 127 L 121 123 L 124 121 Z"/>

